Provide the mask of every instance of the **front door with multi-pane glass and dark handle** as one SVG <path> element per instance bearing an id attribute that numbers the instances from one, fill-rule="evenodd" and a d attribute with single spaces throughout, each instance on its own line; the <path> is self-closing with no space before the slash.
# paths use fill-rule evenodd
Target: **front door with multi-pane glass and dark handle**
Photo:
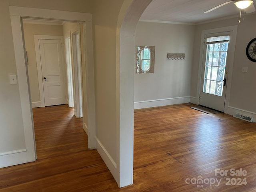
<path id="1" fill-rule="evenodd" d="M 230 36 L 206 36 L 199 104 L 224 112 Z"/>

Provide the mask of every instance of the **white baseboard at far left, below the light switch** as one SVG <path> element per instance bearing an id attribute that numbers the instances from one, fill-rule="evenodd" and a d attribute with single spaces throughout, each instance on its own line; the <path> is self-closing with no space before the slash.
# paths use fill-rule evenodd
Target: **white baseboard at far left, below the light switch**
<path id="1" fill-rule="evenodd" d="M 0 168 L 27 163 L 26 149 L 0 153 Z"/>

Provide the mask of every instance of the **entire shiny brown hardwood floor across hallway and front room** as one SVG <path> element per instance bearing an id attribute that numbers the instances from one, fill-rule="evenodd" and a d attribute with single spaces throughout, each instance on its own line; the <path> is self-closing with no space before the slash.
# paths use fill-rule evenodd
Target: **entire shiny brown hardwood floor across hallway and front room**
<path id="1" fill-rule="evenodd" d="M 38 160 L 0 169 L 0 192 L 256 192 L 256 123 L 191 106 L 135 110 L 134 184 L 121 189 L 88 150 L 81 118 L 67 106 L 35 108 Z M 232 168 L 247 174 L 230 176 Z"/>

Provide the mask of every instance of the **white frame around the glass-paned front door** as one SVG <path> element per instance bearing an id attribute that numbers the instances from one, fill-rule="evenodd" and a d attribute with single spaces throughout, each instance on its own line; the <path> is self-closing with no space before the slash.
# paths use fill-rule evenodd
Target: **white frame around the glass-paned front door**
<path id="1" fill-rule="evenodd" d="M 216 29 L 209 29 L 209 30 L 202 30 L 201 34 L 201 41 L 200 41 L 200 59 L 199 59 L 199 68 L 198 68 L 198 81 L 197 81 L 197 95 L 196 95 L 196 103 L 199 104 L 199 96 L 200 90 L 203 85 L 201 85 L 201 78 L 202 78 L 202 66 L 204 64 L 204 38 L 207 34 L 215 34 L 215 33 L 222 33 L 222 32 L 230 32 L 230 43 L 228 44 L 228 51 L 229 55 L 227 60 L 229 60 L 228 69 L 228 80 L 226 83 L 226 98 L 224 104 L 224 113 L 228 113 L 228 104 L 230 100 L 230 90 L 231 90 L 231 82 L 232 82 L 232 73 L 233 73 L 233 63 L 234 63 L 234 54 L 236 48 L 236 34 L 237 34 L 237 25 L 216 28 Z"/>

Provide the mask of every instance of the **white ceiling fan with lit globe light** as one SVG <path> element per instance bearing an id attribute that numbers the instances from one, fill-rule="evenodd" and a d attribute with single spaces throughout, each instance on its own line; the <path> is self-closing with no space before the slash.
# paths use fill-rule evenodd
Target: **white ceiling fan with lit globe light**
<path id="1" fill-rule="evenodd" d="M 220 7 L 222 7 L 222 6 L 226 5 L 226 4 L 229 4 L 231 2 L 235 2 L 235 5 L 238 8 L 240 8 L 241 10 L 244 9 L 246 13 L 252 13 L 252 12 L 255 11 L 255 7 L 253 5 L 253 1 L 251 1 L 251 0 L 230 0 L 228 2 L 220 4 L 220 5 L 212 8 L 212 9 L 210 9 L 210 10 L 204 12 L 204 13 L 209 13 L 209 12 L 211 12 L 211 11 L 213 11 L 215 9 L 218 9 L 218 8 L 220 8 Z"/>

